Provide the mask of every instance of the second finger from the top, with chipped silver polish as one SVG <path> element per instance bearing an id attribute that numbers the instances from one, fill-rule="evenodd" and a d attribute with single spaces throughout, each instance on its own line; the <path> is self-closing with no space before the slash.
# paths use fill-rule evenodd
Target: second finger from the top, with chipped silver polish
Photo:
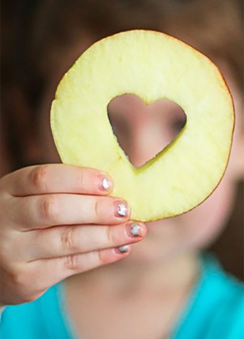
<path id="1" fill-rule="evenodd" d="M 78 194 L 46 194 L 11 199 L 12 222 L 21 230 L 73 224 L 118 224 L 129 219 L 124 200 Z M 9 206 L 11 209 L 11 205 Z"/>

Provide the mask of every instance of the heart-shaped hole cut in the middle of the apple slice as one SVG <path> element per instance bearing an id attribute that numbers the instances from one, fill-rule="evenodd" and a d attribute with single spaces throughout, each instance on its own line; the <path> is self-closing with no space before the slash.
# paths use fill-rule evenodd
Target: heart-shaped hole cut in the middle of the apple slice
<path id="1" fill-rule="evenodd" d="M 129 93 L 113 98 L 107 113 L 120 147 L 136 168 L 157 157 L 186 123 L 186 114 L 176 102 L 160 99 L 146 105 Z"/>

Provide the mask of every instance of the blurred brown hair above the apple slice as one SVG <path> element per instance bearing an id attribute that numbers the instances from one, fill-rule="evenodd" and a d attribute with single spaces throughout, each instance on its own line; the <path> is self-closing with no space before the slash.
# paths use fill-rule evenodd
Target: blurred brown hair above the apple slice
<path id="1" fill-rule="evenodd" d="M 239 2 L 46 0 L 35 18 L 31 59 L 38 61 L 45 72 L 48 64 L 53 67 L 57 62 L 57 52 L 65 53 L 88 32 L 99 40 L 128 29 L 152 29 L 174 35 L 209 57 L 224 60 L 243 88 L 243 20 Z"/>

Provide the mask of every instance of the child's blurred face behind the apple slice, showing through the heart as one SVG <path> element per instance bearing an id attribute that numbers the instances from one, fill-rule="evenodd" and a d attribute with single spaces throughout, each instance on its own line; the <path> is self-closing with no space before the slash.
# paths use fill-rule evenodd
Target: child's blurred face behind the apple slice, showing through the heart
<path id="1" fill-rule="evenodd" d="M 224 76 L 232 92 L 238 118 L 242 114 L 238 112 L 241 111 L 242 96 L 230 73 L 226 72 Z M 48 106 L 51 99 L 48 92 L 41 108 L 41 147 L 49 152 L 44 161 L 60 161 L 49 128 Z M 146 107 L 138 97 L 128 94 L 112 100 L 108 112 L 114 133 L 136 167 L 160 152 L 176 137 L 185 123 L 183 110 L 177 104 L 169 100 L 159 100 Z M 150 263 L 152 260 L 162 260 L 182 251 L 200 249 L 220 232 L 234 200 L 236 159 L 242 157 L 237 147 L 241 135 L 240 127 L 241 123 L 237 119 L 229 164 L 224 178 L 213 194 L 201 205 L 183 215 L 148 222 L 146 238 L 133 245 L 133 251 L 126 260 L 143 260 Z"/>

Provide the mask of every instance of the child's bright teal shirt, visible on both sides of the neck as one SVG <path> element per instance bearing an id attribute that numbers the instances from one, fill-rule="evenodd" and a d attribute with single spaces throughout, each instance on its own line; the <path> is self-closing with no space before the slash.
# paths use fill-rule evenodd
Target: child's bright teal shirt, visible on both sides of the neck
<path id="1" fill-rule="evenodd" d="M 1 339 L 78 339 L 66 311 L 62 282 L 35 301 L 6 306 L 0 334 Z M 199 280 L 169 338 L 244 339 L 243 284 L 227 275 L 212 256 L 201 259 Z"/>

